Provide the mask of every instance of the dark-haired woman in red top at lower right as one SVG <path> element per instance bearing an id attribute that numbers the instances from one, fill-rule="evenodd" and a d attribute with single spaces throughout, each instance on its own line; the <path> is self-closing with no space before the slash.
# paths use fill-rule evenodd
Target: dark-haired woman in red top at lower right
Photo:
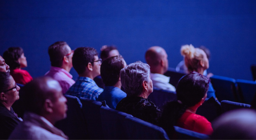
<path id="1" fill-rule="evenodd" d="M 170 138 L 174 134 L 173 126 L 207 135 L 213 132 L 211 123 L 205 117 L 195 114 L 206 99 L 208 87 L 209 79 L 197 72 L 179 80 L 176 88 L 178 101 L 168 102 L 159 120 L 159 125 Z"/>

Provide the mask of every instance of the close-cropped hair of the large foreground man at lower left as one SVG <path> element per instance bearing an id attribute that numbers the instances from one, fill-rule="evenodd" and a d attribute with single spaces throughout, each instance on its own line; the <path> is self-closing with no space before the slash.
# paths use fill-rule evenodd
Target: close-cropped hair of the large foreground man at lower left
<path id="1" fill-rule="evenodd" d="M 51 77 L 38 77 L 22 87 L 22 102 L 24 110 L 40 114 L 46 99 L 55 100 L 53 91 L 50 91 L 47 80 Z"/>

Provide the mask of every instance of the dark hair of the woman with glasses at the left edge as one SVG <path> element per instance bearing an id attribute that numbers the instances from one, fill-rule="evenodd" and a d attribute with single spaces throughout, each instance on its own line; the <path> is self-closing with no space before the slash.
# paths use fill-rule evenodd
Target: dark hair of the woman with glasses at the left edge
<path id="1" fill-rule="evenodd" d="M 8 90 L 10 85 L 10 73 L 0 71 L 0 93 Z"/>

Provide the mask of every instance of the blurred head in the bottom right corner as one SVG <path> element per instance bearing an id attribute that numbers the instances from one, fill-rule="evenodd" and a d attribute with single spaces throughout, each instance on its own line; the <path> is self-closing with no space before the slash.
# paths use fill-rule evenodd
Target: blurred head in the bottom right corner
<path id="1" fill-rule="evenodd" d="M 255 140 L 256 112 L 238 109 L 222 114 L 213 121 L 213 140 Z"/>

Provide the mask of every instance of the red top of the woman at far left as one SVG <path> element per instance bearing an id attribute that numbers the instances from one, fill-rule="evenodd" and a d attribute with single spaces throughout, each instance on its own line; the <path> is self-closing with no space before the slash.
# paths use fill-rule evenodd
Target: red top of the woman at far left
<path id="1" fill-rule="evenodd" d="M 27 70 L 15 69 L 11 70 L 10 74 L 12 77 L 14 77 L 14 81 L 18 84 L 27 84 L 33 80 Z"/>

